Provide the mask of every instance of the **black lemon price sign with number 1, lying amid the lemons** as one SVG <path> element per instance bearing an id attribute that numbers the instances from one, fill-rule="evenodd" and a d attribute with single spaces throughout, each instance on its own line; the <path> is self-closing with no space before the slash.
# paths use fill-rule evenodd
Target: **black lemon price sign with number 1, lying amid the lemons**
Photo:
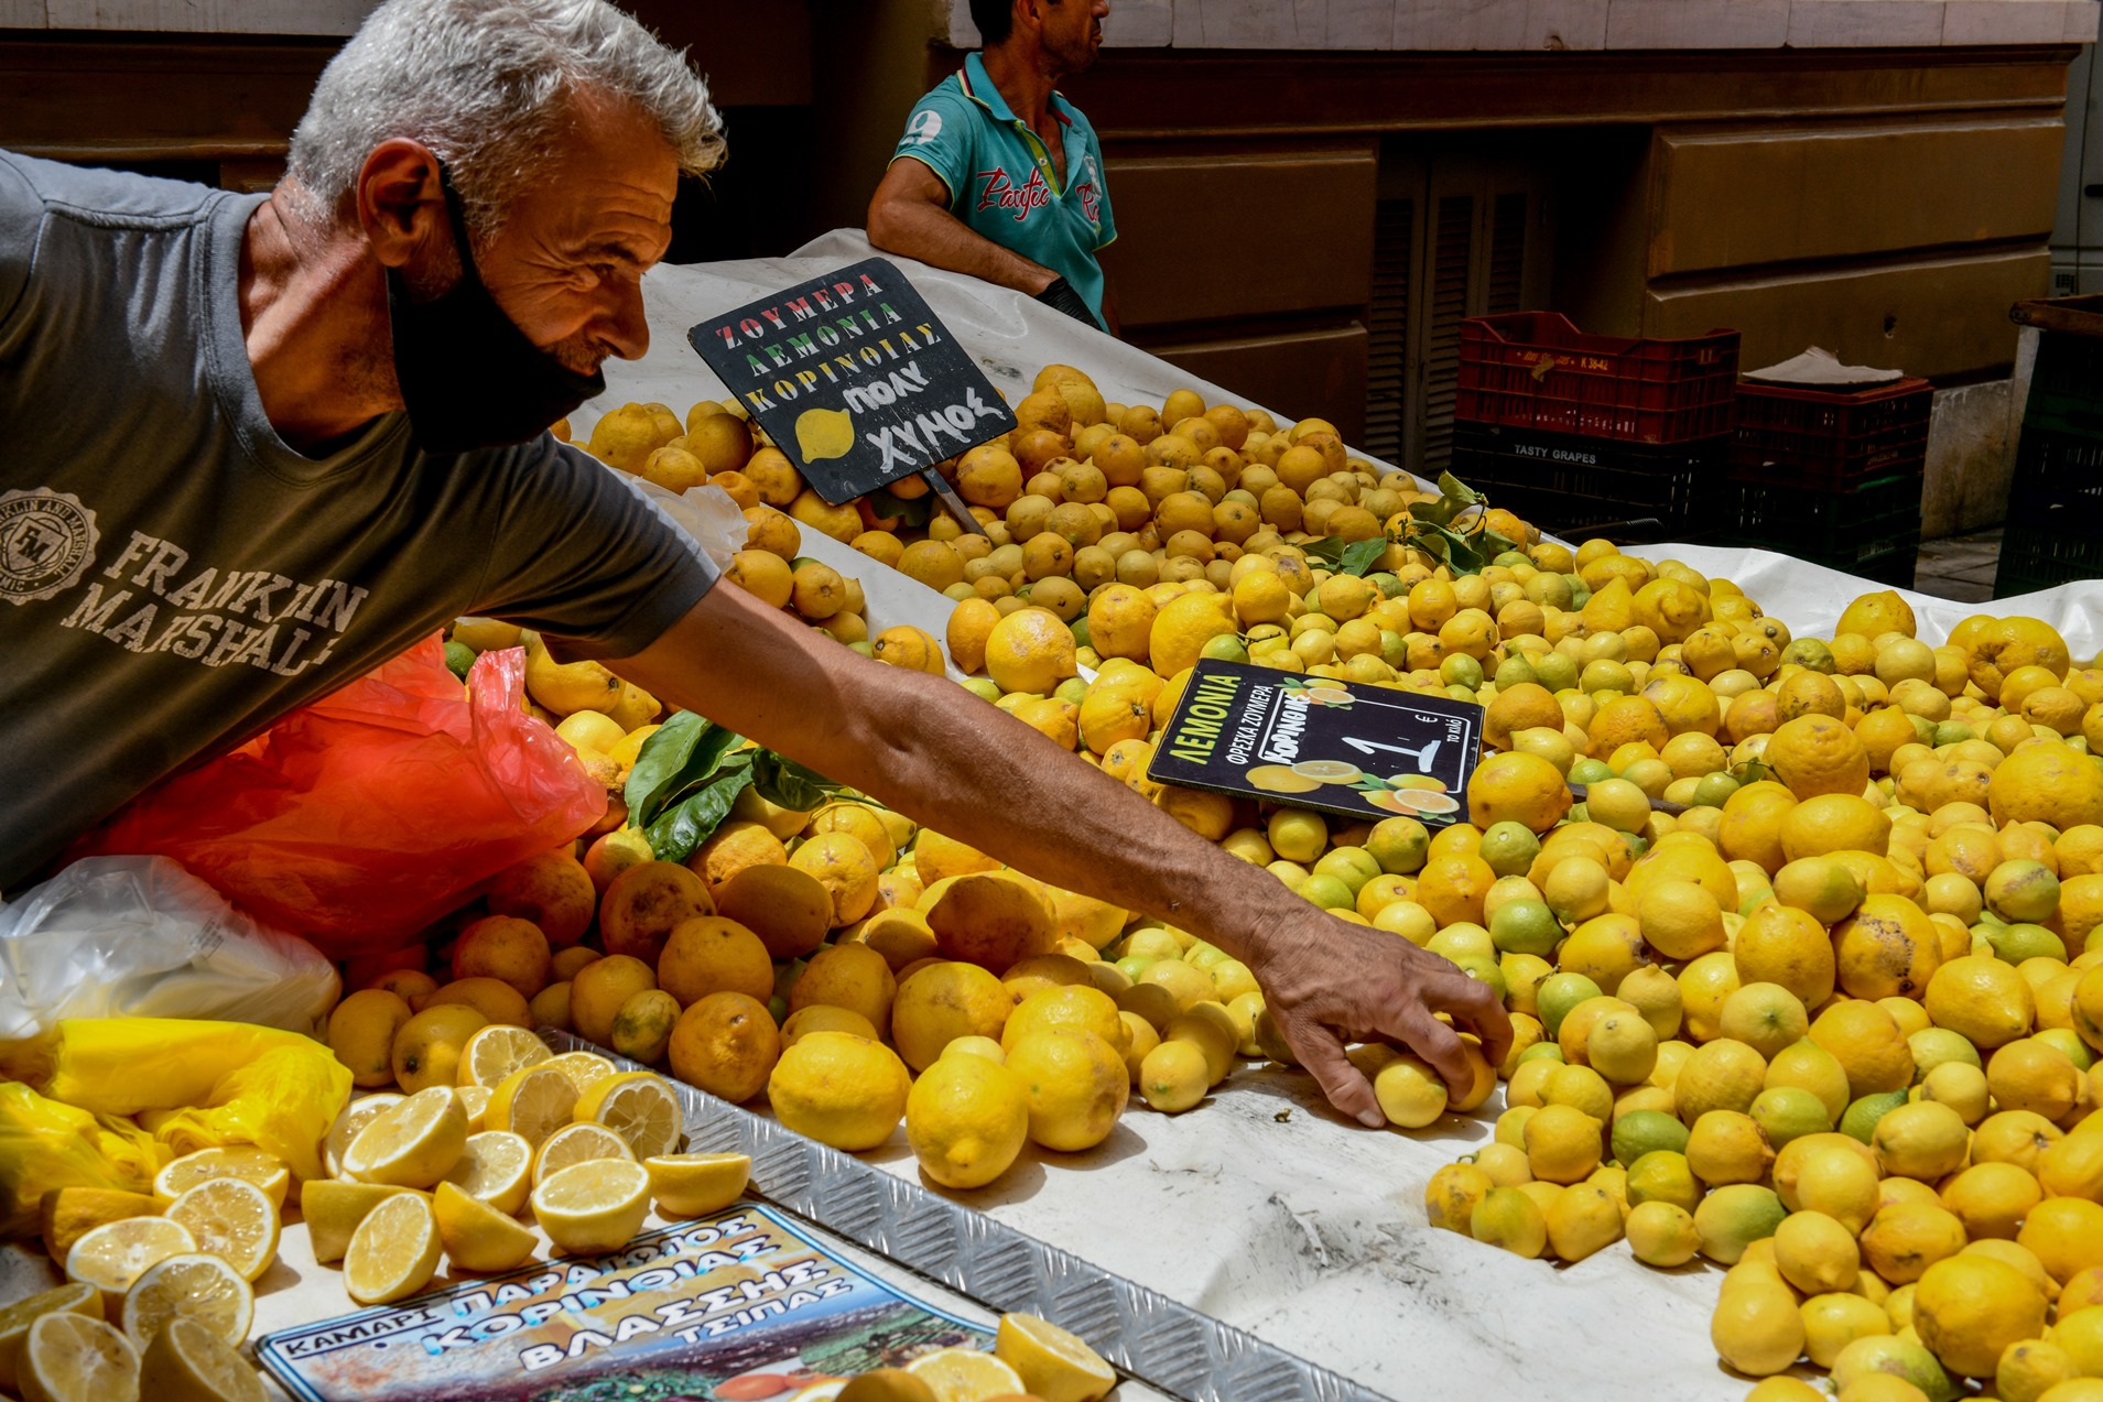
<path id="1" fill-rule="evenodd" d="M 1466 822 L 1481 744 L 1474 702 L 1203 660 L 1146 778 L 1438 828 Z"/>

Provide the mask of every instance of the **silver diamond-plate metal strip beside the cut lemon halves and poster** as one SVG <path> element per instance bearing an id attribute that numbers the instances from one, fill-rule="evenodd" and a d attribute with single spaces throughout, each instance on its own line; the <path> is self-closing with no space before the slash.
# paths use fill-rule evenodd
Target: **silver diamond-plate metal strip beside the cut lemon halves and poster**
<path id="1" fill-rule="evenodd" d="M 570 1032 L 543 1028 L 557 1051 L 593 1051 L 641 1070 Z M 751 1154 L 768 1202 L 969 1295 L 995 1312 L 1024 1312 L 1087 1339 L 1119 1373 L 1182 1402 L 1388 1402 L 1386 1396 L 1274 1343 L 1222 1324 L 1167 1295 L 864 1164 L 679 1080 L 696 1154 Z"/>

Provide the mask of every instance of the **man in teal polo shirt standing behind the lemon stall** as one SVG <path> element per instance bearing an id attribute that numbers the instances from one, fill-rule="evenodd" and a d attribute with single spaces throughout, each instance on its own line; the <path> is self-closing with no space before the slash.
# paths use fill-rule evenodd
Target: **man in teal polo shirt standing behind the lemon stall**
<path id="1" fill-rule="evenodd" d="M 869 242 L 1117 332 L 1096 252 L 1117 238 L 1102 145 L 1058 82 L 1096 61 L 1104 0 L 972 0 L 984 48 L 906 120 Z"/>

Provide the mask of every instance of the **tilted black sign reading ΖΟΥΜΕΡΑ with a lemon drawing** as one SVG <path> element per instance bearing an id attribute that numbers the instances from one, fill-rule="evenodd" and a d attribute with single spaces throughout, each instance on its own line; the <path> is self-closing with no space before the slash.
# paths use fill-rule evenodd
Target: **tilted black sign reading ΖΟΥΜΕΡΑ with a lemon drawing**
<path id="1" fill-rule="evenodd" d="M 761 296 L 686 338 L 835 507 L 1016 427 L 993 380 L 883 259 Z"/>

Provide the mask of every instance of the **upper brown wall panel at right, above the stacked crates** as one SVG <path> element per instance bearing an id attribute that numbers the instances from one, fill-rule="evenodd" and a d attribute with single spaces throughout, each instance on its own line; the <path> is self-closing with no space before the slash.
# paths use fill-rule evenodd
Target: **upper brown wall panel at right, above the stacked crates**
<path id="1" fill-rule="evenodd" d="M 1661 135 L 1651 275 L 2042 242 L 2053 229 L 2063 135 L 2057 116 Z"/>

